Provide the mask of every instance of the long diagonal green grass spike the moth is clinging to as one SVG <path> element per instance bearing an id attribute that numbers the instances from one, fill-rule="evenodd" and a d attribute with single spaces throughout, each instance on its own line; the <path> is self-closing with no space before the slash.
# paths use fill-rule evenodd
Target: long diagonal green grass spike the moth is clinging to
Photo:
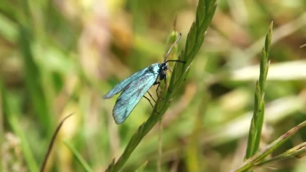
<path id="1" fill-rule="evenodd" d="M 206 32 L 216 10 L 215 2 L 215 0 L 200 0 L 198 2 L 196 20 L 193 22 L 188 33 L 185 49 L 179 55 L 179 60 L 186 61 L 186 64 L 175 64 L 169 87 L 163 92 L 164 96 L 162 97 L 164 99 L 157 101 L 154 111 L 152 111 L 148 120 L 139 126 L 138 130 L 129 140 L 120 158 L 116 162 L 113 161 L 111 164 L 109 164 L 106 171 L 119 171 L 128 160 L 136 146 L 140 143 L 142 138 L 152 129 L 152 127 L 155 126 L 155 124 L 162 118 L 164 113 L 169 108 L 171 102 L 170 100 L 176 96 L 183 79 L 185 79 L 189 71 L 188 69 L 191 62 L 204 41 L 204 33 Z"/>

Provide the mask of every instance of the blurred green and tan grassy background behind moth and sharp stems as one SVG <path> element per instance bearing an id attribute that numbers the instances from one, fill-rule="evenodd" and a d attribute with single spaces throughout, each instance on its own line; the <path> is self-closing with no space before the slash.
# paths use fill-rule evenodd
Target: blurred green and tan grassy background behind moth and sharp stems
<path id="1" fill-rule="evenodd" d="M 48 171 L 83 171 L 71 143 L 94 171 L 118 158 L 151 112 L 142 99 L 122 125 L 101 99 L 116 83 L 162 62 L 177 16 L 183 38 L 197 1 L 113 0 L 0 2 L 0 143 L 3 171 L 35 171 L 57 124 Z M 228 171 L 245 156 L 259 55 L 274 21 L 265 90 L 264 147 L 306 118 L 306 1 L 219 1 L 181 96 L 163 118 L 163 171 Z M 170 72 L 170 71 L 169 71 Z M 155 88 L 151 89 L 152 93 Z M 122 171 L 156 171 L 159 127 L 140 142 Z M 275 154 L 306 140 L 306 129 Z M 305 171 L 306 158 L 258 171 Z"/>

